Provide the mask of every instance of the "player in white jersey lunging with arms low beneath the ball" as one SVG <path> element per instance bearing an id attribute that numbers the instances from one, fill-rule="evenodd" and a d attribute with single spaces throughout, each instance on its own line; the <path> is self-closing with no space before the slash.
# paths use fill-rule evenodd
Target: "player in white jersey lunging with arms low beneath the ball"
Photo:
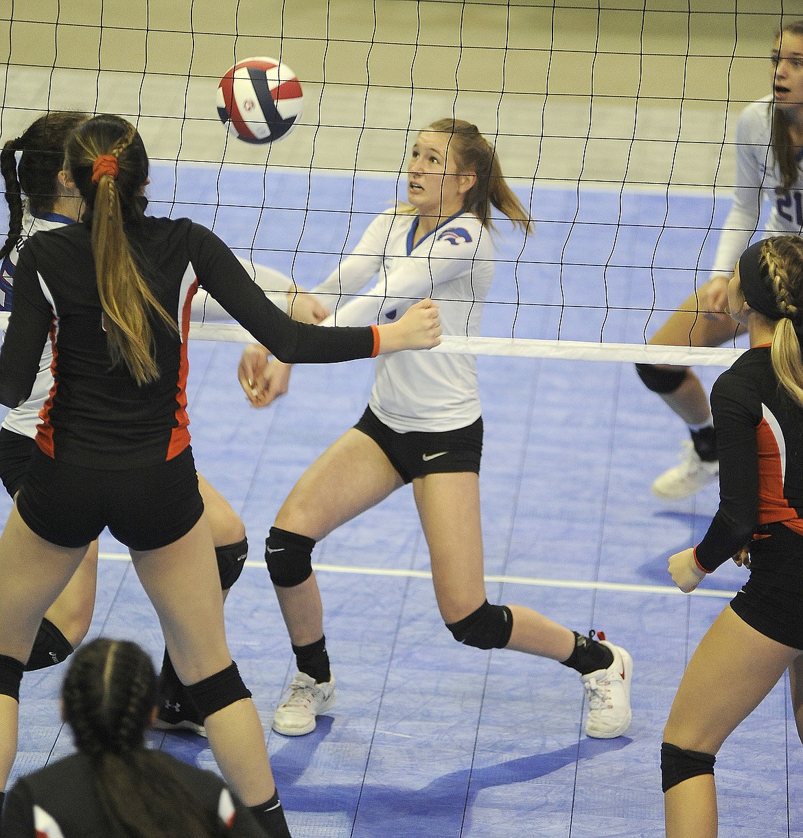
<path id="1" fill-rule="evenodd" d="M 379 215 L 317 294 L 339 300 L 378 275 L 365 296 L 337 303 L 331 322 L 387 323 L 423 297 L 437 301 L 444 334 L 477 335 L 493 279 L 491 205 L 525 232 L 529 215 L 505 183 L 493 147 L 477 127 L 441 120 L 413 146 L 408 204 Z M 288 368 L 248 347 L 239 375 L 253 405 L 286 389 Z M 275 378 L 284 376 L 284 385 Z M 562 661 L 590 699 L 586 731 L 627 730 L 633 661 L 618 646 L 553 623 L 529 608 L 488 603 L 483 580 L 479 467 L 482 415 L 475 359 L 403 353 L 377 365 L 368 409 L 306 470 L 284 501 L 265 559 L 295 652 L 298 673 L 274 714 L 274 730 L 298 736 L 335 701 L 311 551 L 337 526 L 412 483 L 430 549 L 441 615 L 459 642 Z M 593 635 L 593 632 L 592 632 Z"/>

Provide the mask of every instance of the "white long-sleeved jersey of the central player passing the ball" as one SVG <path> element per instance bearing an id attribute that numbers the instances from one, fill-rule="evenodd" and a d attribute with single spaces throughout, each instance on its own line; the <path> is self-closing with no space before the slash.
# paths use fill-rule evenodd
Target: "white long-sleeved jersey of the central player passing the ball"
<path id="1" fill-rule="evenodd" d="M 490 234 L 476 215 L 464 212 L 414 246 L 418 220 L 395 209 L 373 220 L 352 254 L 313 289 L 331 306 L 325 324 L 392 323 L 413 303 L 431 297 L 440 308 L 443 334 L 480 333 L 482 304 L 493 280 Z M 370 290 L 353 296 L 377 276 Z M 335 299 L 327 300 L 330 294 Z M 368 403 L 394 431 L 451 431 L 482 412 L 473 355 L 408 350 L 380 355 L 376 364 Z"/>

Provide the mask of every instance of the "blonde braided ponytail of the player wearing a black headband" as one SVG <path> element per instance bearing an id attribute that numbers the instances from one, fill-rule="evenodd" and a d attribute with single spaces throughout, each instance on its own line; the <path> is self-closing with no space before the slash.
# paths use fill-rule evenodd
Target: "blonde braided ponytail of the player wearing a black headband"
<path id="1" fill-rule="evenodd" d="M 803 240 L 798 235 L 777 235 L 760 248 L 769 270 L 771 291 L 783 317 L 775 324 L 772 365 L 782 385 L 803 407 Z"/>

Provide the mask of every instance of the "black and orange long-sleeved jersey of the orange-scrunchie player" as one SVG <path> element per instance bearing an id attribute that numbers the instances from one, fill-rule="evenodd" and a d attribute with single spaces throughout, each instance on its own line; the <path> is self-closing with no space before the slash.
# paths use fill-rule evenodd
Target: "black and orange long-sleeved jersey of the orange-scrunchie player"
<path id="1" fill-rule="evenodd" d="M 178 327 L 152 318 L 159 379 L 142 386 L 123 363 L 112 365 L 91 230 L 75 224 L 37 233 L 20 253 L 0 351 L 0 402 L 16 407 L 30 396 L 50 339 L 54 383 L 36 441 L 51 457 L 94 468 L 138 468 L 185 449 L 190 300 L 199 284 L 280 360 L 322 363 L 373 354 L 370 327 L 318 328 L 291 320 L 206 227 L 145 217 L 127 234 L 149 287 Z"/>

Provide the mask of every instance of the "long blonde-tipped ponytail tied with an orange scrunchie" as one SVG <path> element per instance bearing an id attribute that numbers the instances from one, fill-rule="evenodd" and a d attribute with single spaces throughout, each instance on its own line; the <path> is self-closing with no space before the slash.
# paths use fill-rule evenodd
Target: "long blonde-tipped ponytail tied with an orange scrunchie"
<path id="1" fill-rule="evenodd" d="M 95 116 L 70 137 L 65 165 L 86 202 L 83 220 L 91 225 L 112 363 L 126 365 L 138 385 L 157 380 L 154 326 L 158 321 L 176 338 L 178 326 L 150 290 L 143 277 L 144 260 L 136 256 L 126 233 L 143 223 L 149 162 L 142 138 L 121 116 Z"/>

